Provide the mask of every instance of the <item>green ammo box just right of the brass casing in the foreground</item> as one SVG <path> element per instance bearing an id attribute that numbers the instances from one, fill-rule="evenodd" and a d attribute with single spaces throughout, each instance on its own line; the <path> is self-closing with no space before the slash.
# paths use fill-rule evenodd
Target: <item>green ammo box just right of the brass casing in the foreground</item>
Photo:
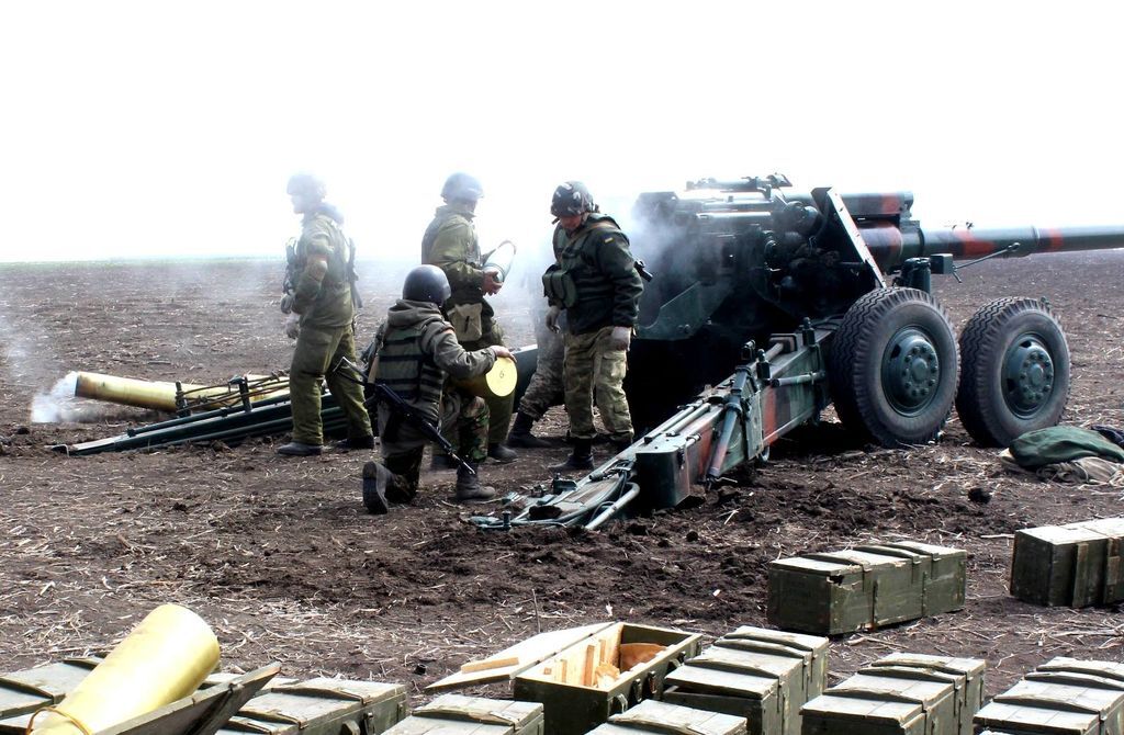
<path id="1" fill-rule="evenodd" d="M 374 735 L 406 716 L 406 687 L 375 681 L 309 679 L 251 699 L 220 735 Z"/>

